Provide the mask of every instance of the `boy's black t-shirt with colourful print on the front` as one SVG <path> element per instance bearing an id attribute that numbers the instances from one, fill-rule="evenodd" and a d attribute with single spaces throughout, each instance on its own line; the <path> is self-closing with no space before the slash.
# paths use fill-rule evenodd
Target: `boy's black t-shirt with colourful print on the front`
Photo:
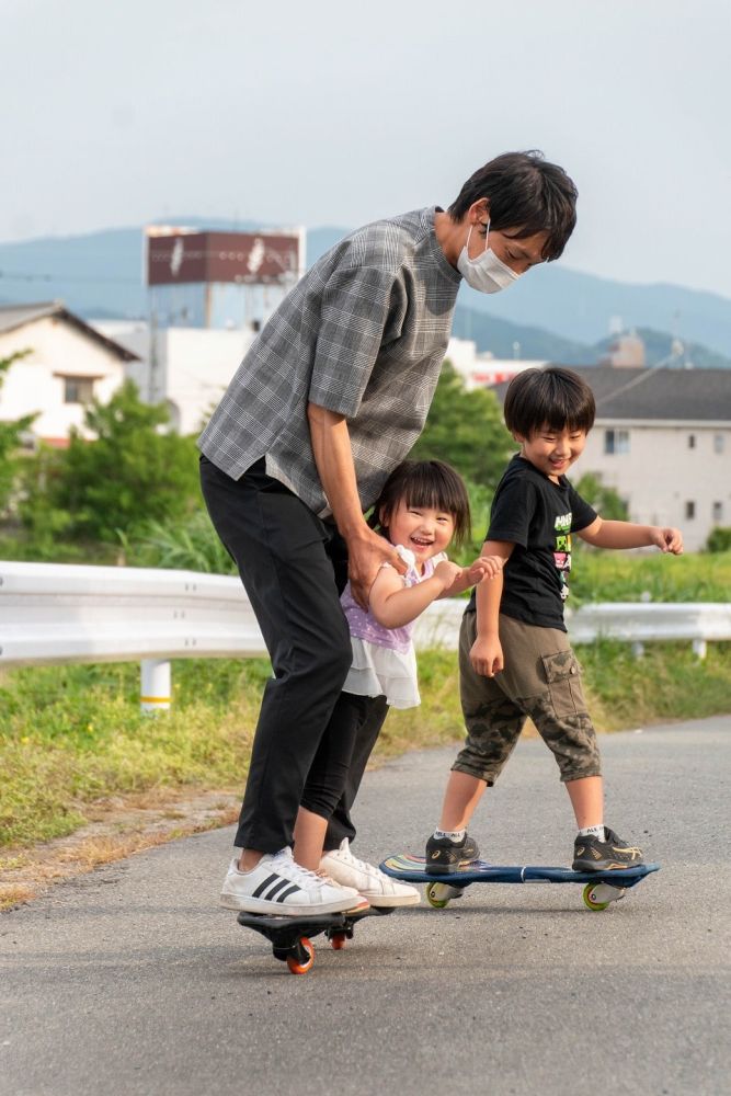
<path id="1" fill-rule="evenodd" d="M 569 594 L 571 534 L 585 529 L 596 511 L 566 476 L 555 483 L 526 460 L 514 456 L 498 484 L 486 540 L 515 545 L 503 570 L 500 612 L 541 628 L 563 624 Z M 470 600 L 475 608 L 475 591 Z"/>

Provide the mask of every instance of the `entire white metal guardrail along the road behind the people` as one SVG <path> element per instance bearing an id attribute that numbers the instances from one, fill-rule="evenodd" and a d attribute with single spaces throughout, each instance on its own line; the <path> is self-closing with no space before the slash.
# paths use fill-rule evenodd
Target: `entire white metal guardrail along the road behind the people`
<path id="1" fill-rule="evenodd" d="M 433 603 L 418 649 L 455 649 L 465 602 Z M 575 643 L 607 636 L 642 644 L 731 639 L 727 604 L 584 605 L 568 617 Z M 170 706 L 170 660 L 253 658 L 266 649 L 237 578 L 148 568 L 0 561 L 0 667 L 64 662 L 141 663 L 141 704 Z"/>

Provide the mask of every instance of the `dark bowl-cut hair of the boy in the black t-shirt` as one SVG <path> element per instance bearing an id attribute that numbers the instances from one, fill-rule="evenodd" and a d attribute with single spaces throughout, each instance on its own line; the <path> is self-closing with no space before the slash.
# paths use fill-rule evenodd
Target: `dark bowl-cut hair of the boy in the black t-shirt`
<path id="1" fill-rule="evenodd" d="M 507 386 L 503 404 L 511 434 L 526 438 L 544 426 L 589 432 L 595 414 L 594 392 L 586 381 L 557 365 L 518 373 Z"/>

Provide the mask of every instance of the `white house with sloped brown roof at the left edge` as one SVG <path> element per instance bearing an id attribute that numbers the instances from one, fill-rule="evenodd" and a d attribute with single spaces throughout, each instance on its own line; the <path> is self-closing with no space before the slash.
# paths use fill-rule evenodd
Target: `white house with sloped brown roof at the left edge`
<path id="1" fill-rule="evenodd" d="M 106 403 L 136 355 L 61 301 L 0 307 L 0 358 L 13 362 L 0 388 L 0 421 L 37 414 L 32 433 L 64 446 L 92 398 Z"/>

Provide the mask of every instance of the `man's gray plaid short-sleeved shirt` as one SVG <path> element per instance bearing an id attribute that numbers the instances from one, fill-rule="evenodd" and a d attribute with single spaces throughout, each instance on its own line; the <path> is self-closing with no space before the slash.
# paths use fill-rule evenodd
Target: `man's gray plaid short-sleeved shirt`
<path id="1" fill-rule="evenodd" d="M 434 206 L 377 220 L 322 255 L 252 344 L 198 438 L 239 479 L 260 457 L 315 513 L 308 402 L 347 419 L 358 493 L 373 505 L 419 437 L 461 275 L 434 235 Z"/>

